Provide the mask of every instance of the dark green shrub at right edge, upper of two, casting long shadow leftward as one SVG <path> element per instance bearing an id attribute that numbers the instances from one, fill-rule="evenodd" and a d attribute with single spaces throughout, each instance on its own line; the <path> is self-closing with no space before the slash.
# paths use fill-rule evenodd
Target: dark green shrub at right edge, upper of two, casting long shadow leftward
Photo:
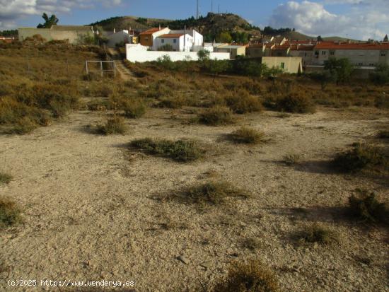
<path id="1" fill-rule="evenodd" d="M 356 144 L 351 150 L 338 153 L 332 160 L 332 165 L 344 173 L 387 164 L 388 157 L 385 156 L 381 148 L 364 143 Z"/>

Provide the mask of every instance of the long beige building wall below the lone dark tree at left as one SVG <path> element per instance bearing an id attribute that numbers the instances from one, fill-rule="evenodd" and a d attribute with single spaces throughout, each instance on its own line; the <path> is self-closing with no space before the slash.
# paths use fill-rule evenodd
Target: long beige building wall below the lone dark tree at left
<path id="1" fill-rule="evenodd" d="M 92 32 L 86 30 L 50 30 L 50 28 L 18 28 L 18 35 L 20 41 L 33 35 L 42 35 L 47 41 L 69 40 L 69 43 L 77 44 L 82 37 L 92 35 Z"/>

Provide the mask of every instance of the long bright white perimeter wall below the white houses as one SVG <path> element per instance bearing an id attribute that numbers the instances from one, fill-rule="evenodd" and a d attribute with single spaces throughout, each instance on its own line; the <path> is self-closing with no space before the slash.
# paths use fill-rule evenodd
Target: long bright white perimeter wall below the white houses
<path id="1" fill-rule="evenodd" d="M 175 61 L 182 61 L 185 59 L 188 59 L 190 57 L 190 60 L 197 61 L 197 52 L 158 52 L 158 51 L 148 51 L 147 47 L 144 47 L 142 45 L 132 45 L 127 44 L 126 45 L 126 57 L 129 62 L 151 62 L 156 61 L 159 57 L 162 57 L 163 55 L 168 55 L 170 59 Z M 229 60 L 230 54 L 229 53 L 214 53 L 211 52 L 210 56 L 211 59 L 216 60 Z"/>

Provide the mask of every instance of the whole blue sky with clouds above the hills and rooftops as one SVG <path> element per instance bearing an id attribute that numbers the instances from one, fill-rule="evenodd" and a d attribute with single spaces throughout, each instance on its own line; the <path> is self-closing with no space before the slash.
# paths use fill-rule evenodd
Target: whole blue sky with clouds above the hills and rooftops
<path id="1" fill-rule="evenodd" d="M 236 13 L 263 28 L 296 28 L 307 35 L 382 40 L 389 34 L 389 0 L 199 0 L 202 15 Z M 196 0 L 0 0 L 0 30 L 42 23 L 54 13 L 62 25 L 85 25 L 112 16 L 182 19 Z"/>

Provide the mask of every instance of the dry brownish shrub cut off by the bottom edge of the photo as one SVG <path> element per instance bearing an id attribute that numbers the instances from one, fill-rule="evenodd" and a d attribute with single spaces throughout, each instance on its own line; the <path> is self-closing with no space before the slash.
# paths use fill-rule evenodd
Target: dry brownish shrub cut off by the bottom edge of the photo
<path id="1" fill-rule="evenodd" d="M 228 275 L 212 289 L 213 292 L 277 292 L 279 284 L 274 272 L 257 260 L 247 264 L 233 262 Z"/>

